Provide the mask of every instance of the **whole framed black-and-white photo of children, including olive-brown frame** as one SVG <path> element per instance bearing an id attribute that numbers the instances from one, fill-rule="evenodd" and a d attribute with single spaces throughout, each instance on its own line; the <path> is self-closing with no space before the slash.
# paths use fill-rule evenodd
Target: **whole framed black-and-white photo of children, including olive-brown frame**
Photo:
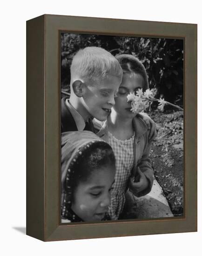
<path id="1" fill-rule="evenodd" d="M 197 25 L 27 21 L 27 235 L 197 231 Z"/>

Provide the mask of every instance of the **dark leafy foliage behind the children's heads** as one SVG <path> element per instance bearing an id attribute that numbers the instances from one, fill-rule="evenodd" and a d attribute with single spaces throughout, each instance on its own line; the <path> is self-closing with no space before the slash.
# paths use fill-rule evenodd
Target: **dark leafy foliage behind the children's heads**
<path id="1" fill-rule="evenodd" d="M 183 40 L 91 34 L 61 34 L 61 87 L 69 92 L 70 66 L 81 48 L 97 46 L 114 56 L 132 54 L 145 66 L 156 97 L 183 107 Z"/>

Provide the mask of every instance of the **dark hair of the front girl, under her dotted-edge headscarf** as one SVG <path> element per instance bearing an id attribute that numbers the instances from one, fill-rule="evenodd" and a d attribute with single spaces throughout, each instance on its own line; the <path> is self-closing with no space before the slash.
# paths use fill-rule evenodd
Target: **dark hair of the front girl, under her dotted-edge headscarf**
<path id="1" fill-rule="evenodd" d="M 72 167 L 70 186 L 72 193 L 80 182 L 88 181 L 94 170 L 107 166 L 115 166 L 115 157 L 111 146 L 104 141 L 96 141 L 83 150 Z"/>

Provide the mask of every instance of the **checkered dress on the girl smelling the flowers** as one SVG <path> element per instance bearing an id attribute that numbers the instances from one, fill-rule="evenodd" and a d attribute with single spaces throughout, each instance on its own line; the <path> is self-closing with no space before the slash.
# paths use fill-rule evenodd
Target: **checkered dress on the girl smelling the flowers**
<path id="1" fill-rule="evenodd" d="M 130 139 L 124 141 L 116 139 L 110 132 L 108 132 L 108 135 L 109 144 L 116 158 L 116 174 L 111 193 L 109 215 L 112 220 L 116 220 L 123 210 L 128 179 L 131 176 L 131 169 L 134 164 L 135 134 Z"/>

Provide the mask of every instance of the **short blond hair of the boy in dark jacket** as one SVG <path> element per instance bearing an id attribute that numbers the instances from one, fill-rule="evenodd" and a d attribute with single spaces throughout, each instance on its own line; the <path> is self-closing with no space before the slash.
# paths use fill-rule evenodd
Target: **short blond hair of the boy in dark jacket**
<path id="1" fill-rule="evenodd" d="M 72 60 L 71 78 L 85 81 L 113 75 L 122 79 L 122 68 L 115 57 L 101 47 L 86 47 L 79 50 Z"/>

